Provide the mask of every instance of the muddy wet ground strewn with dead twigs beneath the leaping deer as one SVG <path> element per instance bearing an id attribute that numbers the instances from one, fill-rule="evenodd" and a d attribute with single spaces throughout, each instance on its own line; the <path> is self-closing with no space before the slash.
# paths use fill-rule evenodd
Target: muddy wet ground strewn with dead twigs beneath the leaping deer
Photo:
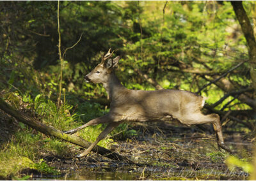
<path id="1" fill-rule="evenodd" d="M 246 180 L 248 173 L 240 168 L 229 170 L 219 150 L 215 134 L 198 127 L 175 126 L 169 122 L 134 126 L 136 136 L 120 139 L 115 135 L 113 151 L 137 164 L 129 165 L 92 153 L 82 159 L 46 156 L 45 161 L 61 175 L 34 174 L 33 179 L 67 180 Z M 122 133 L 120 133 L 122 134 Z M 253 141 L 242 132 L 224 131 L 225 143 L 237 156 L 250 160 Z M 81 149 L 81 152 L 83 150 Z"/>

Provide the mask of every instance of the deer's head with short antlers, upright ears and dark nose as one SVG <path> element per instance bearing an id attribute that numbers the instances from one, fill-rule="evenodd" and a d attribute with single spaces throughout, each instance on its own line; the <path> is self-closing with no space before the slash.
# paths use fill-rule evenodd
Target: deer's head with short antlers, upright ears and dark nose
<path id="1" fill-rule="evenodd" d="M 111 52 L 111 48 L 109 48 L 108 53 L 104 55 L 102 53 L 101 62 L 98 64 L 93 71 L 88 73 L 88 75 L 84 76 L 84 80 L 86 82 L 93 82 L 93 83 L 106 83 L 109 80 L 110 74 L 118 64 L 120 59 L 119 56 L 112 59 L 114 51 Z"/>

